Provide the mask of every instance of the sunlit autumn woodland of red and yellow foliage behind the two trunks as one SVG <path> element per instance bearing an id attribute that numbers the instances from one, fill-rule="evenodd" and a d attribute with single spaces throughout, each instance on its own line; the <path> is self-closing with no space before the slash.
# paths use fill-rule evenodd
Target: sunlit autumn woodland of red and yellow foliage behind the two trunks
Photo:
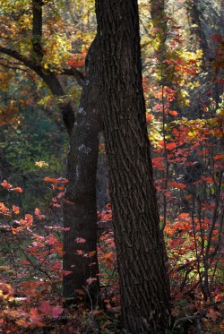
<path id="1" fill-rule="evenodd" d="M 41 66 L 43 75 L 56 73 L 62 98 L 8 51 L 32 60 L 30 3 L 0 1 L 0 332 L 121 332 L 103 135 L 97 187 L 105 310 L 81 303 L 74 311 L 61 291 L 69 144 L 62 115 L 66 106 L 77 113 L 95 4 L 44 2 Z M 139 11 L 146 118 L 177 318 L 167 332 L 221 333 L 223 1 L 142 0 Z"/>

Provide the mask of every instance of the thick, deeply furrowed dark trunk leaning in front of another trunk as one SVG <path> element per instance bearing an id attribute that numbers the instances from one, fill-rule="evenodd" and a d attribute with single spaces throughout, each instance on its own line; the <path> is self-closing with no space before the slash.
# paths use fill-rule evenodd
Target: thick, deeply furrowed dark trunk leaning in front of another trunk
<path id="1" fill-rule="evenodd" d="M 97 0 L 100 84 L 126 330 L 168 328 L 169 284 L 142 92 L 137 0 Z"/>

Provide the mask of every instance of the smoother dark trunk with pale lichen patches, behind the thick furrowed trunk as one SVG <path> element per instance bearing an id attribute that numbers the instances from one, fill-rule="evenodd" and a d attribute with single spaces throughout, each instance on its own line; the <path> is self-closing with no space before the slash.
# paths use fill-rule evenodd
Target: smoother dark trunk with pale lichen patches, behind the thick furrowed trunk
<path id="1" fill-rule="evenodd" d="M 64 270 L 72 273 L 64 277 L 64 296 L 76 297 L 76 290 L 87 291 L 85 302 L 99 304 L 99 272 L 97 259 L 96 172 L 99 152 L 99 62 L 98 42 L 90 47 L 86 62 L 85 85 L 73 127 L 67 161 L 64 217 Z M 82 237 L 85 243 L 75 240 Z M 82 250 L 87 256 L 77 254 Z M 95 252 L 92 255 L 92 252 Z M 91 253 L 91 256 L 88 254 Z M 88 285 L 87 279 L 94 278 Z"/>

